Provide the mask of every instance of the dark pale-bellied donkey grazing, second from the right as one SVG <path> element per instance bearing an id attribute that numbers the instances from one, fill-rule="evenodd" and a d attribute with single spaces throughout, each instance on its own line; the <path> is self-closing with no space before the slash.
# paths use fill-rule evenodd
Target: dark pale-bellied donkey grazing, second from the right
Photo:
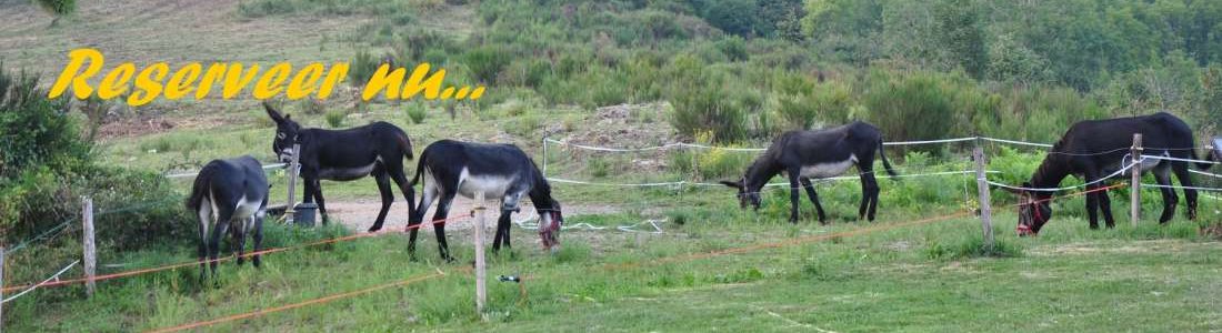
<path id="1" fill-rule="evenodd" d="M 824 207 L 819 204 L 819 194 L 815 193 L 810 178 L 836 177 L 857 165 L 862 177 L 862 207 L 858 209 L 858 218 L 866 217 L 874 221 L 874 212 L 879 205 L 879 182 L 874 178 L 875 150 L 882 157 L 882 166 L 887 173 L 895 177 L 896 172 L 891 170 L 891 162 L 882 151 L 882 134 L 873 124 L 857 121 L 820 131 L 789 131 L 776 138 L 767 151 L 755 159 L 742 179 L 721 183 L 738 189 L 739 206 L 745 209 L 750 204 L 759 210 L 760 190 L 769 179 L 783 172 L 789 177 L 789 222 L 798 223 L 800 184 L 807 189 L 810 202 L 815 204 L 819 222 L 826 223 Z"/>

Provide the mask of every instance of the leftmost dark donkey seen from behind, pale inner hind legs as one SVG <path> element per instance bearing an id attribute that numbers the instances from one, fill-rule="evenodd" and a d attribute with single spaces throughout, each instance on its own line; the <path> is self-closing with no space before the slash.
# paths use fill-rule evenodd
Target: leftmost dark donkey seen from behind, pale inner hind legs
<path id="1" fill-rule="evenodd" d="M 237 263 L 246 259 L 246 235 L 254 232 L 254 267 L 259 267 L 258 252 L 263 249 L 263 216 L 268 207 L 268 178 L 263 166 L 249 155 L 231 160 L 213 160 L 199 170 L 196 183 L 187 199 L 187 209 L 199 216 L 199 278 L 203 279 L 207 267 L 204 260 L 210 257 L 213 276 L 216 274 L 216 256 L 220 252 L 221 238 L 226 235 L 230 224 L 237 238 Z M 211 238 L 208 233 L 211 232 Z"/>

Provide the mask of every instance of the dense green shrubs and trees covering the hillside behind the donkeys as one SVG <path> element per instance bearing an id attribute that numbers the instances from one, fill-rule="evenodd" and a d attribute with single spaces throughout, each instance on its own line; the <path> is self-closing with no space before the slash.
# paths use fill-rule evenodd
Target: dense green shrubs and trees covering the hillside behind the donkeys
<path id="1" fill-rule="evenodd" d="M 290 2 L 318 6 L 254 4 Z M 356 61 L 444 63 L 494 88 L 480 105 L 668 101 L 681 133 L 717 141 L 854 118 L 890 140 L 1051 140 L 1156 110 L 1222 123 L 1217 1 L 483 1 L 469 35 L 396 18 L 447 10 L 415 2 L 385 5 L 357 38 L 386 57 Z M 912 115 L 929 122 L 893 121 Z"/>

